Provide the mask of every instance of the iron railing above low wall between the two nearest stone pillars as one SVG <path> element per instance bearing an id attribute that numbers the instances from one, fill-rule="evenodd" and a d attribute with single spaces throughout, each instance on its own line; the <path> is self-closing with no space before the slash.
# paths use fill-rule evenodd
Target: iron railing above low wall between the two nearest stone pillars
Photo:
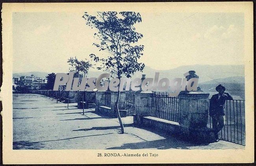
<path id="1" fill-rule="evenodd" d="M 169 97 L 168 92 L 154 92 L 152 94 L 151 116 L 179 122 L 179 108 L 178 97 Z"/>

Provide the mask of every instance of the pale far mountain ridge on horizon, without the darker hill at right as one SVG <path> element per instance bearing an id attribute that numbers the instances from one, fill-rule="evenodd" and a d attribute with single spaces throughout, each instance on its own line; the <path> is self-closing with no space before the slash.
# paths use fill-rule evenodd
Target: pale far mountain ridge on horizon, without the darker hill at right
<path id="1" fill-rule="evenodd" d="M 180 66 L 178 68 L 170 70 L 155 70 L 150 67 L 145 67 L 143 72 L 136 72 L 132 78 L 141 77 L 141 74 L 146 74 L 146 77 L 154 78 L 155 72 L 160 72 L 161 78 L 183 78 L 183 74 L 189 70 L 195 70 L 196 74 L 199 76 L 199 83 L 206 83 L 207 81 L 212 81 L 215 79 L 224 79 L 219 81 L 226 81 L 227 77 L 244 77 L 244 65 L 189 65 L 189 66 Z M 89 71 L 88 77 L 98 77 L 103 72 L 101 71 Z M 45 78 L 47 73 L 45 72 L 25 72 L 25 73 L 14 73 L 13 77 L 20 76 L 30 76 L 34 74 L 35 77 Z M 229 78 L 232 79 L 232 78 Z M 241 79 L 234 79 L 235 81 L 241 81 Z M 215 80 L 218 81 L 218 80 Z M 232 81 L 232 80 L 231 80 Z"/>

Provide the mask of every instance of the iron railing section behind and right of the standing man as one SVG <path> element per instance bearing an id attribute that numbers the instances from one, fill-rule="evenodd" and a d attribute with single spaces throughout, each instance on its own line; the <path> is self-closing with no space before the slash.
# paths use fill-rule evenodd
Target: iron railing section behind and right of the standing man
<path id="1" fill-rule="evenodd" d="M 226 100 L 225 125 L 220 131 L 223 140 L 245 145 L 245 100 Z M 208 115 L 208 127 L 212 119 Z"/>

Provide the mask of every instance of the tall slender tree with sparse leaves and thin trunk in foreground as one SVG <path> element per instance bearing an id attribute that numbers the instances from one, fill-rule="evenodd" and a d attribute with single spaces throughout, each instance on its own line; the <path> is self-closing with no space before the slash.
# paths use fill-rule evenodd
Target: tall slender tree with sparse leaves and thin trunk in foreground
<path id="1" fill-rule="evenodd" d="M 96 16 L 89 15 L 87 12 L 83 15 L 86 24 L 95 28 L 97 33 L 95 38 L 100 43 L 93 43 L 99 51 L 109 53 L 107 57 L 98 57 L 91 54 L 90 57 L 100 66 L 98 70 L 104 70 L 111 74 L 111 77 L 131 77 L 136 71 L 142 71 L 144 63 L 139 63 L 138 59 L 143 55 L 143 45 L 135 43 L 143 37 L 141 33 L 135 31 L 134 24 L 141 22 L 139 13 L 122 11 L 97 12 Z M 119 97 L 115 104 L 115 111 L 121 125 L 121 133 L 124 133 L 124 126 L 119 113 Z"/>

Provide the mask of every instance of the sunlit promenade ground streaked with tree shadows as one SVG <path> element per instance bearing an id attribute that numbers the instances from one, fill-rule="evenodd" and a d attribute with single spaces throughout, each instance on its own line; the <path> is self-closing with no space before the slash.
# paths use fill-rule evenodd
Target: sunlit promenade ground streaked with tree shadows
<path id="1" fill-rule="evenodd" d="M 133 117 L 100 116 L 76 103 L 56 103 L 39 94 L 13 94 L 13 149 L 241 149 L 226 141 L 195 145 L 133 126 Z"/>

